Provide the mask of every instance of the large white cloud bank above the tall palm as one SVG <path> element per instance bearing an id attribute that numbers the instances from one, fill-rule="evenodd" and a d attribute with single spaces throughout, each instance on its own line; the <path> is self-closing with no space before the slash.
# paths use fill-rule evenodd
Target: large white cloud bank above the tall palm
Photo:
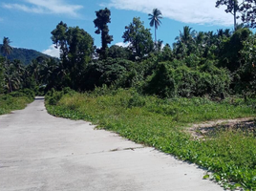
<path id="1" fill-rule="evenodd" d="M 224 7 L 215 8 L 216 0 L 110 0 L 109 7 L 118 10 L 152 12 L 157 8 L 163 17 L 183 23 L 230 26 L 232 14 L 226 13 Z"/>

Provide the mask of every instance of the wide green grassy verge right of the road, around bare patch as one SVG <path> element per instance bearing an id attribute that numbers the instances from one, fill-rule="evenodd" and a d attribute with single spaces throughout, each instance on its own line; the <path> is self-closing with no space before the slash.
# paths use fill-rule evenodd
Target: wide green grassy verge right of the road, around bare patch
<path id="1" fill-rule="evenodd" d="M 255 117 L 256 100 L 207 98 L 160 99 L 133 90 L 100 95 L 67 94 L 47 104 L 50 114 L 92 121 L 148 146 L 191 161 L 213 172 L 224 187 L 256 189 L 256 139 L 240 130 L 219 132 L 215 138 L 195 140 L 184 133 L 188 123 L 220 118 Z M 208 176 L 204 177 L 207 178 Z M 235 182 L 235 183 L 230 183 Z"/>

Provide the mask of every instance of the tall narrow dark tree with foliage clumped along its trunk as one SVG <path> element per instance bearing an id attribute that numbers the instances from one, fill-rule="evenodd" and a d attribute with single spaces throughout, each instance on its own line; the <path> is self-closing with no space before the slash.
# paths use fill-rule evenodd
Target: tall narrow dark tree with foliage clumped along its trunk
<path id="1" fill-rule="evenodd" d="M 95 27 L 97 28 L 96 34 L 101 33 L 101 49 L 97 50 L 101 58 L 106 58 L 108 44 L 113 41 L 113 36 L 109 35 L 108 23 L 111 23 L 110 19 L 111 11 L 105 8 L 105 10 L 96 11 L 96 19 L 94 20 Z"/>

